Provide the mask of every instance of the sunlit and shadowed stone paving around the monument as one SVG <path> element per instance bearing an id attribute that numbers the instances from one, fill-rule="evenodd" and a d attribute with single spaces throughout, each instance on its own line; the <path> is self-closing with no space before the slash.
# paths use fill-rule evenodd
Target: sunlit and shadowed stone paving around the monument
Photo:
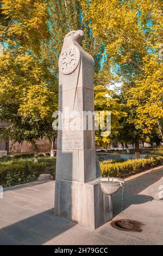
<path id="1" fill-rule="evenodd" d="M 114 219 L 93 231 L 53 215 L 54 181 L 6 188 L 0 199 L 0 245 L 163 245 L 163 169 L 126 182 L 123 212 L 121 193 L 113 195 Z M 113 221 L 128 218 L 136 229 L 121 231 Z"/>

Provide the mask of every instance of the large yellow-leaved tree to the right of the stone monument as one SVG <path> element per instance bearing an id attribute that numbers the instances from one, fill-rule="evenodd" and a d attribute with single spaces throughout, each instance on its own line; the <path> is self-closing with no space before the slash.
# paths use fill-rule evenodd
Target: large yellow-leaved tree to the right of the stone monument
<path id="1" fill-rule="evenodd" d="M 133 124 L 145 133 L 157 126 L 162 136 L 162 1 L 80 3 L 93 35 L 105 44 L 108 69 L 111 66 L 128 90 Z"/>

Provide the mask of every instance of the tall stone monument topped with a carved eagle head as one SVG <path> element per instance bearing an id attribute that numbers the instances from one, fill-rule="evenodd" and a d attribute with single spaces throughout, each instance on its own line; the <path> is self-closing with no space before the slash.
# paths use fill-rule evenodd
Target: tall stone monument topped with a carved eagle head
<path id="1" fill-rule="evenodd" d="M 98 181 L 94 119 L 92 129 L 83 129 L 84 111 L 94 111 L 93 58 L 80 46 L 83 36 L 68 33 L 59 57 L 59 111 L 79 113 L 80 125 L 68 130 L 74 117 L 59 115 L 54 214 L 96 229 L 112 218 L 112 200 Z"/>

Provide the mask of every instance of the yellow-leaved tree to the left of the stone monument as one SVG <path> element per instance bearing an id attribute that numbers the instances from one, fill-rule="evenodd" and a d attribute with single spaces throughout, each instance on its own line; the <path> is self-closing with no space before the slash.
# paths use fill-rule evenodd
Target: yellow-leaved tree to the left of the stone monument
<path id="1" fill-rule="evenodd" d="M 0 119 L 14 142 L 33 144 L 52 129 L 57 109 L 53 77 L 41 58 L 41 42 L 48 39 L 48 10 L 44 0 L 1 1 L 0 4 Z M 56 136 L 56 135 L 55 135 Z"/>

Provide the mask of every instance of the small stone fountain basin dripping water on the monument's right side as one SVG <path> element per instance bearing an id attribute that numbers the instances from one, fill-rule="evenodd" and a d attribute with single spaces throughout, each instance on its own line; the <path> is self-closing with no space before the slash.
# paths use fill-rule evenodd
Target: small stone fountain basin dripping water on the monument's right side
<path id="1" fill-rule="evenodd" d="M 124 186 L 124 180 L 115 177 L 109 177 L 109 180 L 107 177 L 101 178 L 99 179 L 99 182 L 101 184 L 102 191 L 108 195 L 118 192 L 120 187 Z"/>

